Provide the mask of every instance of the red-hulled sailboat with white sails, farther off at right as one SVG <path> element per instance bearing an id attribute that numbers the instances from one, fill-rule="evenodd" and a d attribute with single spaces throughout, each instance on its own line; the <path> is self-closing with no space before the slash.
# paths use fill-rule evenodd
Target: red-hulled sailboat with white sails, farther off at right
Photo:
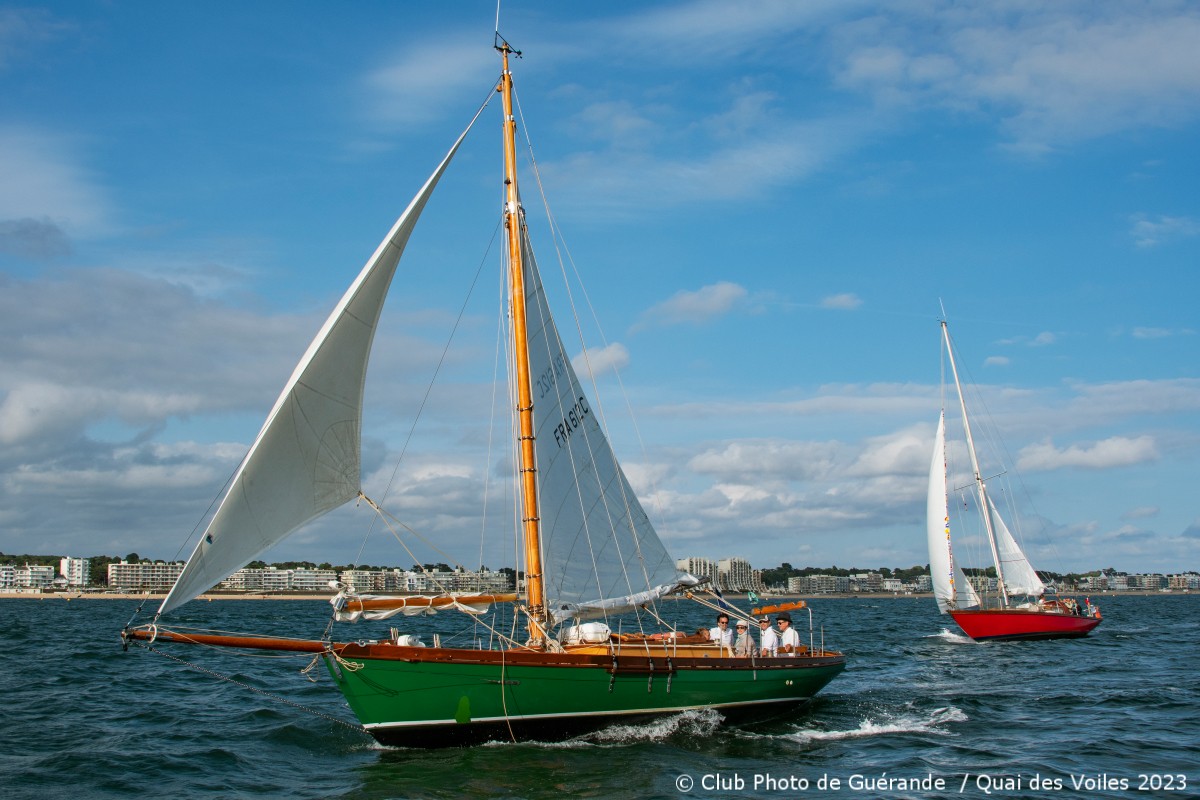
<path id="1" fill-rule="evenodd" d="M 961 566 L 954 560 L 954 548 L 950 542 L 943 404 L 937 420 L 934 457 L 929 465 L 926 506 L 929 571 L 937 608 L 954 618 L 962 632 L 976 640 L 1060 639 L 1087 636 L 1100 624 L 1099 608 L 1091 602 L 1081 604 L 1075 599 L 1045 597 L 1045 584 L 1033 570 L 988 494 L 986 482 L 979 471 L 979 458 L 976 455 L 974 438 L 971 435 L 967 404 L 946 320 L 942 320 L 942 342 L 954 375 L 959 405 L 962 409 L 962 432 L 971 457 L 979 516 L 996 569 L 996 593 L 994 596 L 986 595 L 986 602 L 982 600 L 976 588 L 967 581 Z"/>

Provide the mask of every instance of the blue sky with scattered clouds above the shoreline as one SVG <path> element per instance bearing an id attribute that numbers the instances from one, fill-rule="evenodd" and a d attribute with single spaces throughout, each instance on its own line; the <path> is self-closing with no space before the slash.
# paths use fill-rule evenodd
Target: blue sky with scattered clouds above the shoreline
<path id="1" fill-rule="evenodd" d="M 191 551 L 494 94 L 496 16 L 0 5 L 0 552 Z M 1034 565 L 1200 570 L 1200 7 L 508 0 L 499 28 L 547 291 L 673 555 L 925 564 L 944 307 Z M 352 504 L 266 560 L 514 563 L 480 545 L 511 516 L 499 114 L 414 234 L 367 380 L 364 487 L 436 548 Z"/>

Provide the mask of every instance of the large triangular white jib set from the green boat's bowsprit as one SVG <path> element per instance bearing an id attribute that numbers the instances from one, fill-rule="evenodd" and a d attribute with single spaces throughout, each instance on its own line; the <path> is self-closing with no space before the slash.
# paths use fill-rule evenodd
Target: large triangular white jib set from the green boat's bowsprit
<path id="1" fill-rule="evenodd" d="M 362 387 L 379 313 L 416 219 L 474 122 L 408 204 L 308 345 L 182 573 L 158 607 L 160 614 L 206 591 L 300 525 L 358 495 Z"/>

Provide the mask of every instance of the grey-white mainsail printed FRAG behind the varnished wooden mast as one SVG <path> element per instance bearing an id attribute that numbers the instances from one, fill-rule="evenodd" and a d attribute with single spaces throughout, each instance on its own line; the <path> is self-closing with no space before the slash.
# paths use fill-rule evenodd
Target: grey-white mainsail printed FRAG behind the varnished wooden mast
<path id="1" fill-rule="evenodd" d="M 622 613 L 696 585 L 650 525 L 584 395 L 524 242 L 546 608 L 554 621 Z"/>

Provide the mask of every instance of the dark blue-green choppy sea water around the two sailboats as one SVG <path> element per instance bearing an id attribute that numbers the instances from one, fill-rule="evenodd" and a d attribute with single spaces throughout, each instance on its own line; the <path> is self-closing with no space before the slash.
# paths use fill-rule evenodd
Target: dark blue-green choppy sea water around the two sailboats
<path id="1" fill-rule="evenodd" d="M 320 664 L 302 673 L 311 656 L 125 652 L 118 631 L 136 602 L 0 600 L 0 798 L 1200 795 L 1200 599 L 1093 600 L 1105 619 L 1087 638 L 984 644 L 929 599 L 815 600 L 817 643 L 823 626 L 848 666 L 787 718 L 736 728 L 692 711 L 442 751 L 374 744 Z M 712 622 L 666 606 L 685 630 Z M 174 616 L 312 638 L 329 604 L 196 601 Z M 793 616 L 806 636 L 806 615 Z M 401 618 L 335 638 L 480 634 L 462 625 Z"/>

